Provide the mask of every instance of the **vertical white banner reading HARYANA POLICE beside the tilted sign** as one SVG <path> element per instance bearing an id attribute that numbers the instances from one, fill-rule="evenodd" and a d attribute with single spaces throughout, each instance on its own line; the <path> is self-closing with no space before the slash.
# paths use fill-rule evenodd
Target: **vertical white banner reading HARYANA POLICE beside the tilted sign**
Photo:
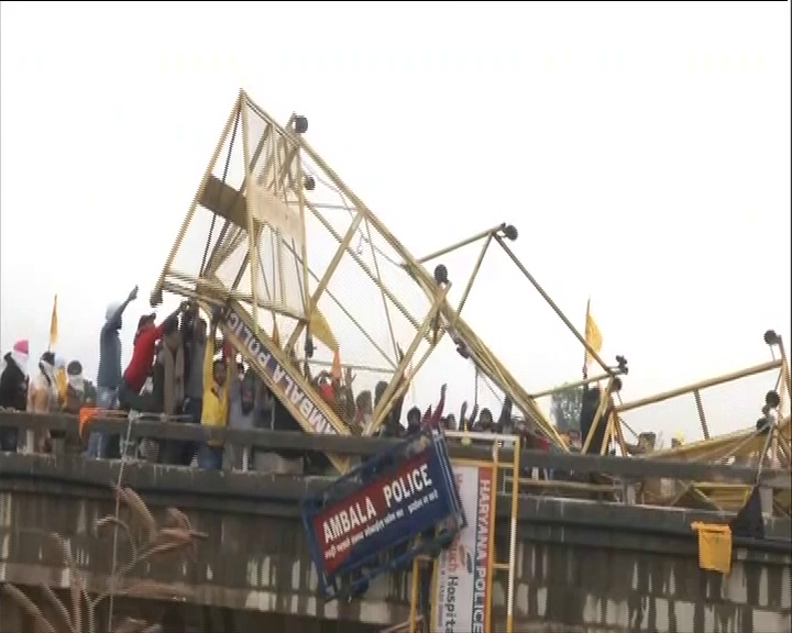
<path id="1" fill-rule="evenodd" d="M 491 633 L 495 467 L 453 471 L 468 525 L 435 562 L 431 633 Z"/>

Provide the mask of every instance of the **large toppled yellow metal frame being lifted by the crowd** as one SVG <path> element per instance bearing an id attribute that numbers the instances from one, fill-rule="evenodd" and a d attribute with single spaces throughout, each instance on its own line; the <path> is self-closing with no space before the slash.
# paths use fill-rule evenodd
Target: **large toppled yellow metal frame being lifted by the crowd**
<path id="1" fill-rule="evenodd" d="M 255 147 L 252 146 L 254 142 L 250 137 L 251 120 L 255 116 L 258 121 L 263 122 L 264 131 Z M 355 193 L 348 187 L 343 180 L 336 174 L 336 171 L 319 156 L 319 154 L 306 142 L 301 134 L 295 131 L 295 122 L 297 118 L 292 115 L 286 126 L 278 125 L 272 116 L 270 116 L 262 108 L 255 104 L 251 98 L 243 90 L 240 90 L 239 96 L 234 102 L 232 111 L 226 123 L 221 137 L 218 145 L 212 154 L 211 160 L 204 174 L 200 186 L 194 197 L 193 203 L 189 208 L 187 216 L 182 224 L 178 232 L 177 238 L 170 249 L 170 253 L 165 262 L 165 266 L 160 275 L 157 284 L 152 292 L 152 303 L 157 304 L 162 301 L 163 291 L 167 290 L 189 298 L 204 298 L 205 300 L 222 301 L 226 298 L 232 298 L 241 301 L 250 309 L 255 327 L 258 330 L 262 326 L 261 313 L 268 312 L 273 315 L 280 314 L 296 320 L 296 326 L 288 336 L 287 342 L 283 346 L 287 355 L 293 351 L 297 340 L 310 322 L 310 316 L 317 309 L 319 299 L 324 295 L 329 293 L 328 282 L 336 274 L 338 265 L 342 257 L 351 257 L 363 273 L 375 284 L 383 301 L 389 300 L 393 306 L 407 319 L 409 323 L 415 327 L 416 332 L 422 331 L 422 341 L 426 341 L 430 345 L 430 349 L 433 348 L 435 341 L 430 336 L 430 332 L 421 329 L 421 322 L 428 316 L 429 313 L 437 312 L 440 319 L 440 327 L 443 332 L 452 334 L 455 341 L 461 341 L 465 344 L 472 362 L 485 377 L 492 380 L 505 395 L 509 396 L 514 402 L 516 409 L 518 409 L 526 419 L 532 420 L 537 427 L 547 435 L 550 441 L 558 447 L 565 449 L 565 443 L 563 438 L 557 433 L 556 427 L 544 417 L 542 411 L 536 403 L 536 398 L 529 395 L 522 386 L 512 376 L 506 367 L 495 357 L 491 349 L 483 343 L 483 341 L 473 332 L 473 330 L 465 323 L 460 316 L 462 309 L 464 308 L 468 298 L 470 296 L 471 288 L 474 280 L 477 277 L 481 268 L 482 260 L 485 254 L 488 252 L 490 246 L 493 243 L 497 243 L 514 264 L 519 268 L 528 281 L 536 288 L 541 297 L 550 304 L 556 311 L 558 316 L 565 323 L 572 334 L 578 338 L 581 345 L 588 349 L 596 362 L 602 366 L 605 375 L 613 376 L 613 369 L 608 368 L 602 358 L 591 349 L 585 342 L 584 336 L 572 325 L 571 321 L 563 314 L 559 307 L 552 301 L 544 289 L 537 282 L 537 280 L 530 275 L 526 267 L 520 263 L 515 253 L 506 244 L 504 236 L 506 236 L 507 227 L 505 224 L 494 226 L 486 231 L 483 231 L 474 236 L 471 236 L 462 242 L 448 246 L 441 251 L 438 251 L 427 257 L 417 259 L 414 257 L 407 248 L 388 231 L 385 224 L 376 216 L 372 211 L 363 203 L 363 201 L 355 196 Z M 222 187 L 218 187 L 217 178 L 212 176 L 216 169 L 220 153 L 227 143 L 230 141 L 230 134 L 234 121 L 242 129 L 242 154 L 244 160 L 244 179 L 240 186 L 240 190 L 237 191 L 233 188 L 227 188 L 230 191 L 230 196 L 234 197 L 233 204 L 229 208 L 210 208 L 207 207 L 205 197 L 208 191 L 208 187 L 213 187 L 212 191 L 218 192 L 218 199 L 222 196 Z M 234 132 L 238 127 L 234 126 Z M 258 177 L 253 174 L 253 167 L 262 158 L 262 152 L 264 146 L 272 147 L 271 154 L 263 157 L 263 167 L 256 166 L 255 170 L 260 173 Z M 343 198 L 350 201 L 348 207 L 344 207 L 352 214 L 351 224 L 346 232 L 341 235 L 339 234 L 332 224 L 327 220 L 322 210 L 330 207 L 312 201 L 309 196 L 306 196 L 306 190 L 302 187 L 302 163 L 301 157 L 309 159 L 322 174 L 322 179 L 331 182 L 333 188 L 339 191 Z M 270 190 L 279 196 L 286 196 L 284 192 L 289 192 L 287 203 L 297 204 L 299 211 L 299 218 L 302 222 L 302 229 L 305 231 L 305 218 L 310 214 L 312 215 L 336 240 L 338 248 L 330 264 L 326 270 L 311 270 L 308 266 L 306 240 L 302 241 L 302 249 L 299 253 L 293 251 L 292 255 L 299 260 L 301 264 L 301 287 L 304 306 L 301 307 L 302 314 L 296 314 L 294 311 L 287 310 L 284 306 L 279 304 L 275 300 L 277 296 L 277 288 L 266 289 L 265 291 L 270 295 L 268 300 L 264 300 L 258 297 L 258 284 L 257 279 L 262 279 L 266 285 L 266 276 L 263 273 L 263 264 L 260 256 L 260 237 L 261 237 L 261 225 L 258 220 L 254 220 L 254 214 L 251 209 L 251 201 L 245 195 L 249 182 L 256 182 L 257 185 L 268 187 Z M 222 185 L 222 184 L 221 184 Z M 229 192 L 227 191 L 227 192 Z M 244 211 L 238 210 L 237 197 L 244 198 Z M 183 245 L 187 229 L 195 218 L 198 206 L 201 204 L 205 208 L 213 211 L 216 216 L 224 222 L 224 225 L 220 232 L 215 246 L 211 249 L 209 259 L 206 262 L 206 269 L 200 271 L 187 271 L 174 269 L 174 262 L 179 248 Z M 223 207 L 222 203 L 220 207 Z M 228 204 L 226 204 L 228 207 Z M 233 208 L 232 208 L 233 207 Z M 237 215 L 234 215 L 237 213 Z M 243 214 L 244 218 L 240 214 Z M 471 244 L 479 240 L 483 240 L 484 244 L 481 253 L 477 257 L 475 267 L 466 280 L 464 286 L 464 292 L 462 300 L 458 307 L 452 307 L 450 302 L 443 298 L 439 306 L 432 306 L 432 308 L 425 314 L 413 314 L 405 306 L 399 301 L 396 292 L 391 290 L 387 285 L 383 284 L 382 276 L 380 274 L 378 260 L 376 255 L 373 253 L 374 246 L 371 241 L 370 246 L 372 254 L 374 255 L 373 270 L 370 266 L 362 260 L 356 251 L 352 247 L 352 240 L 359 231 L 363 231 L 371 236 L 372 232 L 376 233 L 400 258 L 402 267 L 413 277 L 414 281 L 424 290 L 425 295 L 429 299 L 429 302 L 435 304 L 437 298 L 437 282 L 433 279 L 433 275 L 430 274 L 425 264 L 437 257 L 450 253 L 454 249 Z M 207 286 L 207 277 L 212 276 L 218 268 L 228 260 L 231 253 L 240 245 L 246 242 L 248 254 L 245 256 L 244 265 L 250 270 L 252 291 L 250 296 L 237 292 L 237 284 L 242 277 L 242 270 L 238 276 L 238 280 L 230 288 L 212 288 Z M 280 260 L 286 251 L 290 247 L 288 244 L 283 243 L 283 240 L 278 240 L 277 253 L 273 254 L 274 259 Z M 273 264 L 275 266 L 275 263 Z M 312 295 L 308 293 L 310 279 L 317 281 L 317 286 Z M 283 281 L 283 280 L 282 280 Z M 282 291 L 283 296 L 283 291 Z M 310 297 L 310 299 L 308 299 Z M 363 336 L 372 344 L 374 340 L 365 332 L 364 327 L 360 325 L 358 320 L 354 319 L 351 311 L 348 310 L 336 297 L 330 296 L 331 300 L 341 307 L 342 311 L 352 320 L 355 326 L 362 332 Z M 386 304 L 387 311 L 387 304 Z M 300 318 L 301 316 L 301 318 Z M 388 318 L 389 321 L 389 318 Z M 388 323 L 389 324 L 389 323 Z M 393 332 L 392 332 L 393 337 Z M 395 346 L 395 345 L 394 345 Z M 417 348 L 417 345 L 415 346 Z M 374 348 L 377 349 L 387 360 L 387 365 L 392 366 L 393 375 L 388 385 L 388 393 L 386 398 L 381 401 L 381 410 L 377 411 L 377 415 L 381 421 L 382 417 L 394 406 L 397 399 L 397 386 L 403 379 L 403 373 L 399 371 L 397 365 L 404 365 L 405 367 L 413 364 L 416 349 L 413 354 L 405 354 L 404 363 L 394 360 L 389 354 L 385 353 L 378 345 L 374 344 Z M 408 378 L 411 380 L 417 371 L 413 371 Z M 366 433 L 374 433 L 378 424 L 372 424 L 366 430 Z"/>

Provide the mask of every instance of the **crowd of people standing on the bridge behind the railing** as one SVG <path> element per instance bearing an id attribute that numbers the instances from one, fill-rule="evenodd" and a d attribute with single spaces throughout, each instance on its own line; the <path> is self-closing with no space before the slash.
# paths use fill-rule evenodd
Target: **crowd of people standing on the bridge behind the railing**
<path id="1" fill-rule="evenodd" d="M 202 318 L 197 306 L 182 303 L 176 311 L 156 323 L 155 314 L 140 318 L 133 340 L 132 357 L 124 370 L 121 365 L 120 331 L 127 307 L 136 299 L 134 288 L 127 299 L 107 308 L 99 334 L 99 368 L 96 387 L 82 376 L 79 360 L 65 363 L 51 351 L 38 359 L 29 375 L 29 343 L 19 341 L 4 356 L 0 376 L 0 408 L 34 413 L 79 413 L 96 408 L 120 411 L 132 417 L 148 417 L 205 427 L 273 429 L 300 431 L 301 426 L 283 402 L 273 396 L 265 384 L 245 367 L 232 346 L 218 338 L 219 313 Z M 317 393 L 346 424 L 353 434 L 371 432 L 374 412 L 385 396 L 388 384 L 381 381 L 374 392 L 353 390 L 351 369 L 341 375 L 340 368 L 310 375 L 308 364 L 295 369 L 309 380 Z M 613 381 L 605 406 L 604 395 L 596 386 L 585 387 L 580 412 L 580 430 L 570 432 L 568 443 L 580 451 L 588 438 L 587 453 L 610 453 L 606 440 L 606 424 L 612 413 L 610 395 L 620 390 L 618 378 Z M 404 397 L 398 398 L 377 430 L 380 435 L 405 437 L 424 426 L 442 426 L 449 431 L 473 433 L 519 434 L 527 448 L 549 451 L 550 442 L 530 423 L 513 415 L 512 401 L 506 398 L 497 419 L 486 408 L 474 406 L 469 412 L 463 403 L 459 420 L 446 411 L 443 385 L 437 406 L 426 411 L 413 407 L 403 423 Z M 778 395 L 768 393 L 762 419 L 769 420 L 778 408 Z M 600 423 L 595 419 L 600 413 Z M 125 418 L 124 418 L 125 419 Z M 592 431 L 593 429 L 593 431 Z M 330 464 L 322 453 L 301 451 L 242 449 L 223 445 L 220 440 L 188 442 L 144 440 L 127 445 L 120 425 L 118 433 L 91 430 L 82 447 L 90 458 L 120 458 L 121 454 L 155 459 L 164 464 L 197 466 L 207 469 L 249 468 L 264 471 L 321 473 Z M 590 437 L 591 435 L 591 437 Z M 653 449 L 653 434 L 644 434 L 631 454 Z M 0 427 L 0 451 L 15 452 L 23 444 L 32 452 L 50 452 L 57 441 L 67 437 L 57 431 L 34 431 L 22 437 L 16 429 Z M 133 444 L 133 445 L 132 445 Z"/>

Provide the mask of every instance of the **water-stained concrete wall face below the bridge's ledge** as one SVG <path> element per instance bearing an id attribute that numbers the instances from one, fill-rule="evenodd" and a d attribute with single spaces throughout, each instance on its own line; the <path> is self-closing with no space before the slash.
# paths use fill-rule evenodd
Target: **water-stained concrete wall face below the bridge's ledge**
<path id="1" fill-rule="evenodd" d="M 407 619 L 410 576 L 406 573 L 377 579 L 363 600 L 349 604 L 324 603 L 317 596 L 317 576 L 296 518 L 296 499 L 272 503 L 262 492 L 260 502 L 249 499 L 234 504 L 229 501 L 231 490 L 229 495 L 197 495 L 174 487 L 176 479 L 169 480 L 167 470 L 163 468 L 155 477 L 157 487 L 142 496 L 155 514 L 167 504 L 179 507 L 209 540 L 196 560 L 157 562 L 140 570 L 141 576 L 191 587 L 193 604 L 235 612 L 316 617 L 350 626 L 352 622 L 389 625 Z M 108 470 L 107 481 L 110 475 Z M 106 586 L 111 538 L 97 535 L 94 524 L 113 510 L 109 490 L 74 478 L 57 484 L 44 479 L 0 481 L 0 581 L 67 586 L 68 570 L 47 538 L 50 532 L 58 532 L 70 543 L 77 565 L 88 571 L 89 586 Z M 272 478 L 267 481 L 276 485 Z M 789 541 L 774 547 L 738 545 L 733 571 L 723 577 L 698 568 L 692 532 L 658 528 L 663 521 L 686 523 L 686 514 L 668 514 L 679 511 L 657 510 L 662 514 L 656 518 L 653 510 L 642 508 L 641 517 L 653 524 L 641 530 L 623 522 L 608 529 L 606 518 L 619 513 L 618 507 L 551 499 L 525 503 L 536 510 L 537 519 L 530 521 L 527 512 L 520 512 L 515 560 L 517 632 L 792 630 Z M 549 511 L 552 503 L 569 507 Z M 505 560 L 503 530 L 496 549 L 497 558 Z M 498 573 L 498 631 L 505 631 L 505 593 L 506 576 Z"/>

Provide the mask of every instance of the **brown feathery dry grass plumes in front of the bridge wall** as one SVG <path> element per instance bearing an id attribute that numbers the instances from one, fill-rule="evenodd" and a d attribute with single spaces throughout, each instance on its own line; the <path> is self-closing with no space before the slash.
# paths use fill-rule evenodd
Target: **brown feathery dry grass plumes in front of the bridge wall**
<path id="1" fill-rule="evenodd" d="M 50 587 L 41 585 L 40 603 L 47 606 L 51 611 L 47 619 L 36 603 L 18 587 L 10 584 L 0 587 L 0 591 L 34 620 L 37 633 L 99 633 L 100 629 L 96 621 L 97 609 L 111 596 L 150 599 L 190 598 L 189 591 L 176 590 L 153 580 L 131 582 L 127 577 L 142 564 L 166 554 L 176 553 L 195 557 L 198 552 L 198 541 L 205 540 L 206 534 L 193 530 L 187 517 L 176 508 L 168 508 L 164 524 L 157 525 L 147 506 L 134 490 L 113 488 L 117 500 L 128 510 L 128 518 L 124 521 L 120 515 L 105 517 L 97 521 L 96 529 L 99 533 L 108 529 L 118 529 L 130 547 L 130 557 L 110 579 L 107 591 L 99 595 L 88 592 L 85 573 L 77 568 L 69 546 L 58 534 L 53 534 L 52 538 L 69 569 L 69 604 L 64 603 Z M 162 626 L 128 618 L 118 624 L 112 633 L 162 633 Z"/>

